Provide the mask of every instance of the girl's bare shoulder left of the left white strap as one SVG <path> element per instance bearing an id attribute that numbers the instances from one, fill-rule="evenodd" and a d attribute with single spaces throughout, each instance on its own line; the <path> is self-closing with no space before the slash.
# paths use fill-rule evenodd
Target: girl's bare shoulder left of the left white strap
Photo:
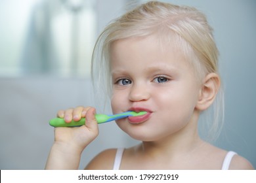
<path id="1" fill-rule="evenodd" d="M 113 169 L 113 162 L 116 157 L 116 148 L 111 148 L 100 152 L 93 158 L 85 169 L 101 169 L 101 170 L 111 170 Z"/>

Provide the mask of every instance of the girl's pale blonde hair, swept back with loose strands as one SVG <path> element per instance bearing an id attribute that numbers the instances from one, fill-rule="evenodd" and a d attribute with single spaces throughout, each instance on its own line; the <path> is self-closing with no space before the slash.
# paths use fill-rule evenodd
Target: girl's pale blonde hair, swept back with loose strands
<path id="1" fill-rule="evenodd" d="M 219 52 L 212 32 L 205 15 L 196 8 L 159 1 L 144 3 L 110 22 L 98 37 L 92 60 L 92 78 L 97 81 L 95 89 L 102 91 L 104 88 L 104 93 L 110 95 L 110 46 L 114 41 L 129 37 L 158 35 L 160 41 L 174 42 L 194 67 L 199 80 L 208 73 L 219 73 Z M 222 101 L 215 100 L 215 103 L 219 103 L 214 107 L 215 120 L 210 127 L 215 134 Z"/>

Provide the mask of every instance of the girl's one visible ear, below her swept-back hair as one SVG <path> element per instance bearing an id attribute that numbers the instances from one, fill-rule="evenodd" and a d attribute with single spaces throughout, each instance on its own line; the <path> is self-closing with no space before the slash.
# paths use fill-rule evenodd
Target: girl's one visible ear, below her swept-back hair
<path id="1" fill-rule="evenodd" d="M 216 73 L 209 73 L 207 76 L 205 76 L 196 108 L 198 110 L 207 109 L 213 103 L 220 86 L 221 80 L 219 75 Z"/>

